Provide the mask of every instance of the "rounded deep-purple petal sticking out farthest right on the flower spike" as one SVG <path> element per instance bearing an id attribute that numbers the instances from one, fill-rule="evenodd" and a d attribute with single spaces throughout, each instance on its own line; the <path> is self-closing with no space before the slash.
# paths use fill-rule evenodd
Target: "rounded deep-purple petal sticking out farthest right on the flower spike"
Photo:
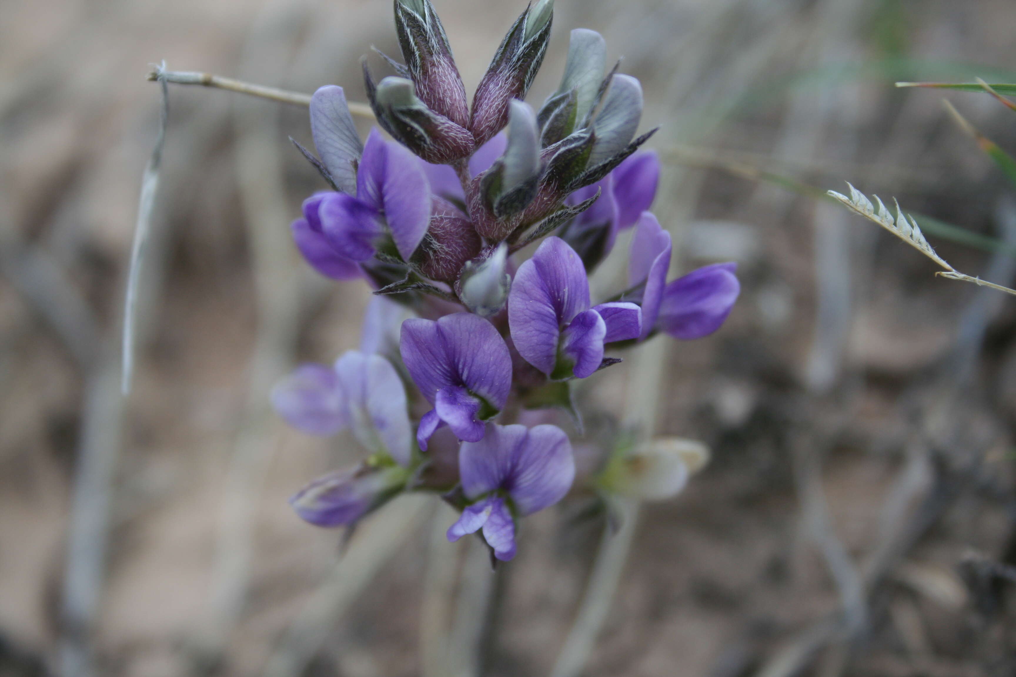
<path id="1" fill-rule="evenodd" d="M 736 263 L 716 263 L 693 270 L 663 289 L 659 328 L 674 338 L 708 336 L 726 320 L 741 293 Z"/>

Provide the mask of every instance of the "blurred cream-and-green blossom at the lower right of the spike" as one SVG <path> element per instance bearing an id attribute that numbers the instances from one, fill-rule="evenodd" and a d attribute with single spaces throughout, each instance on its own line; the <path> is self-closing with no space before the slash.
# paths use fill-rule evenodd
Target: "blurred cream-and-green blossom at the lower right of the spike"
<path id="1" fill-rule="evenodd" d="M 619 450 L 599 477 L 602 488 L 643 500 L 664 500 L 681 493 L 688 478 L 709 461 L 700 442 L 656 437 L 634 451 Z"/>

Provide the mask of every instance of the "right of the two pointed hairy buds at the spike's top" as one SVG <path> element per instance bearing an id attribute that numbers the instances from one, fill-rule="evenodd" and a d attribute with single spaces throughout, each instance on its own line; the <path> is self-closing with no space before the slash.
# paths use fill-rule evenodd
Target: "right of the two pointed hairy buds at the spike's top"
<path id="1" fill-rule="evenodd" d="M 469 130 L 478 145 L 504 128 L 511 99 L 525 98 L 544 62 L 553 18 L 554 0 L 539 0 L 522 12 L 498 47 L 472 98 Z"/>

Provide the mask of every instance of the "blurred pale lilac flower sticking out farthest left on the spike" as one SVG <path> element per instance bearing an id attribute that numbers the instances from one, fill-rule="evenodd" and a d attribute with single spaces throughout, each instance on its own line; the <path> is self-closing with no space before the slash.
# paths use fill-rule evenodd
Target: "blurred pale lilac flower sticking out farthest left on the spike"
<path id="1" fill-rule="evenodd" d="M 295 428 L 331 435 L 348 426 L 371 453 L 408 466 L 412 432 L 405 389 L 384 357 L 357 350 L 333 367 L 304 364 L 272 390 L 275 410 Z"/>

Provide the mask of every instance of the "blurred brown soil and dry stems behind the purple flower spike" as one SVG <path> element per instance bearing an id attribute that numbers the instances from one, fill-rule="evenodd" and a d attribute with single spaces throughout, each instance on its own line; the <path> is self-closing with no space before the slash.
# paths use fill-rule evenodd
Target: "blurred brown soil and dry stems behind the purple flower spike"
<path id="1" fill-rule="evenodd" d="M 471 91 L 523 3 L 435 5 Z M 713 459 L 643 509 L 588 675 L 1016 674 L 1016 303 L 746 178 L 849 180 L 1016 243 L 1013 186 L 944 94 L 892 86 L 1013 81 L 1014 24 L 1012 0 L 558 1 L 529 100 L 556 87 L 570 28 L 601 31 L 642 80 L 643 129 L 662 127 L 654 211 L 680 268 L 735 260 L 743 284 L 726 326 L 660 366 L 658 431 Z M 369 298 L 315 278 L 290 243 L 321 188 L 287 140 L 309 143 L 305 110 L 171 85 L 137 373 L 119 396 L 158 126 L 148 64 L 363 100 L 371 45 L 398 53 L 389 0 L 3 4 L 0 675 L 550 673 L 601 529 L 581 504 L 529 519 L 495 581 L 475 547 L 442 543 L 436 499 L 386 506 L 343 560 L 341 535 L 285 502 L 358 452 L 287 429 L 268 389 L 356 347 Z M 1011 111 L 945 95 L 1016 148 Z M 928 232 L 959 270 L 1013 283 L 1011 247 Z M 590 379 L 585 404 L 623 411 L 631 366 Z M 494 586 L 494 613 L 454 596 L 458 567 Z"/>

